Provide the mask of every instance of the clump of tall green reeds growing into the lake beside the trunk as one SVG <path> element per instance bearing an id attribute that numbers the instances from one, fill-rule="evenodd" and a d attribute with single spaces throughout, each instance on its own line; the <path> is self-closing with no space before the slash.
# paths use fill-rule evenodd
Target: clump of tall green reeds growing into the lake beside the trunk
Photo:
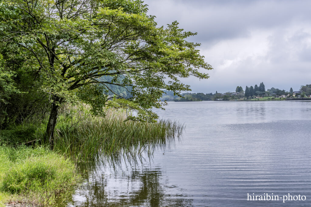
<path id="1" fill-rule="evenodd" d="M 150 146 L 179 137 L 182 124 L 171 120 L 154 123 L 126 120 L 125 110 L 107 110 L 106 116 L 91 116 L 87 110 L 61 112 L 54 149 L 76 160 L 102 155 L 137 155 Z"/>

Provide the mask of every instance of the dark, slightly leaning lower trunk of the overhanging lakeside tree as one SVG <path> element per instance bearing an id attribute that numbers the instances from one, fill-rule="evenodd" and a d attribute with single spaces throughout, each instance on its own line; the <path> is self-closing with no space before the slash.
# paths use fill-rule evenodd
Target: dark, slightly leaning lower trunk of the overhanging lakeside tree
<path id="1" fill-rule="evenodd" d="M 51 149 L 54 148 L 54 130 L 55 130 L 55 126 L 56 126 L 56 122 L 58 118 L 59 104 L 62 102 L 62 98 L 53 96 L 52 100 L 53 102 L 51 104 L 51 113 L 50 113 L 49 122 L 46 127 L 46 134 L 45 134 L 45 141 L 49 142 Z"/>

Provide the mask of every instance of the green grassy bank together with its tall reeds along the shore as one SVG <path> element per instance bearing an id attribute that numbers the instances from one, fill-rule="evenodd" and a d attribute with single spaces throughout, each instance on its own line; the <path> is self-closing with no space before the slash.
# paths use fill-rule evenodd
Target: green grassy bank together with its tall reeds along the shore
<path id="1" fill-rule="evenodd" d="M 79 182 L 77 162 L 98 154 L 133 157 L 146 150 L 152 153 L 152 146 L 179 137 L 184 128 L 169 120 L 126 120 L 124 110 L 107 110 L 106 116 L 94 117 L 85 107 L 63 107 L 53 151 L 44 147 L 47 143 L 23 144 L 42 139 L 45 126 L 46 120 L 29 120 L 0 130 L 0 206 L 12 200 L 51 206 L 56 199 L 65 200 Z"/>

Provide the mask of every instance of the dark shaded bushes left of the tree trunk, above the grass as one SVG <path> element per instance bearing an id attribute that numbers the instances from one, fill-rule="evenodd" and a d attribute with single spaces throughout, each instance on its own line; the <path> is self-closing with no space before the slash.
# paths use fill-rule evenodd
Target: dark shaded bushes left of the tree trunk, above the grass
<path id="1" fill-rule="evenodd" d="M 22 54 L 17 53 L 11 57 L 4 44 L 0 45 L 0 52 L 5 54 L 2 56 L 2 68 L 14 74 L 10 80 L 14 91 L 3 90 L 5 96 L 0 92 L 0 96 L 7 100 L 0 103 L 0 128 L 6 128 L 9 124 L 20 124 L 26 119 L 34 118 L 38 122 L 44 119 L 49 107 L 48 96 L 39 91 L 40 82 L 36 80 L 34 71 L 23 66 Z M 3 75 L 3 70 L 0 74 Z"/>

